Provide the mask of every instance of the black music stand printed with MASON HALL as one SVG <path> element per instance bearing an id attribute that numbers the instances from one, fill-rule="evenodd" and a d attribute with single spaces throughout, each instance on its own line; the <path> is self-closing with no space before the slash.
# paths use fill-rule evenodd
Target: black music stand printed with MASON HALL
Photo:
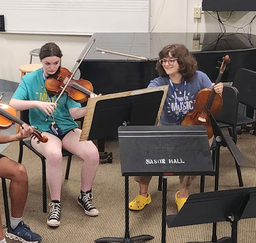
<path id="1" fill-rule="evenodd" d="M 129 237 L 129 176 L 214 175 L 207 132 L 204 126 L 120 126 L 118 137 L 122 175 L 125 176 L 125 238 L 109 237 L 95 242 L 150 240 L 153 239 L 150 235 Z M 166 236 L 165 216 L 166 178 L 163 183 L 162 242 Z"/>

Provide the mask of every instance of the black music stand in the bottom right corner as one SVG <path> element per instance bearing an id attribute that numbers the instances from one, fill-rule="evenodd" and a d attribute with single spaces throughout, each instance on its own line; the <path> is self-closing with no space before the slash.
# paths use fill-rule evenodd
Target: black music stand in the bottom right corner
<path id="1" fill-rule="evenodd" d="M 240 219 L 256 217 L 255 204 L 256 188 L 193 194 L 177 215 L 166 216 L 166 223 L 168 227 L 177 227 L 228 221 L 232 228 L 231 238 L 213 242 L 237 243 L 237 223 Z"/>

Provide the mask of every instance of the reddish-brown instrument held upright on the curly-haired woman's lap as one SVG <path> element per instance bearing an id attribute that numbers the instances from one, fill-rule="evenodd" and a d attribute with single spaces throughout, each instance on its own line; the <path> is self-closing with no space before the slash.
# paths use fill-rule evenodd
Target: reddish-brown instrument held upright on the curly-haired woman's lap
<path id="1" fill-rule="evenodd" d="M 222 58 L 220 73 L 215 82 L 215 85 L 218 84 L 221 80 L 221 77 L 225 71 L 227 63 L 230 62 L 228 55 Z M 213 131 L 210 121 L 210 115 L 216 115 L 220 112 L 222 107 L 223 99 L 221 94 L 216 94 L 214 89 L 201 89 L 195 101 L 195 109 L 193 112 L 186 114 L 186 117 L 181 122 L 182 126 L 193 126 L 193 125 L 204 125 L 207 129 L 208 138 L 212 138 Z"/>

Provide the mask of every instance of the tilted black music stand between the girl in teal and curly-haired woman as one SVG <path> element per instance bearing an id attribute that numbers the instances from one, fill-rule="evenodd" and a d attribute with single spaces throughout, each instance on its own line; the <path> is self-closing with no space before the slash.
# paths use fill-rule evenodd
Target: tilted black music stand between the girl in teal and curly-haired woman
<path id="1" fill-rule="evenodd" d="M 97 101 L 93 114 L 92 126 L 88 140 L 116 136 L 121 125 L 150 125 L 154 126 L 164 91 L 146 92 L 132 96 Z M 126 184 L 127 182 L 125 182 Z M 128 184 L 128 183 L 127 183 Z M 125 205 L 129 198 L 126 196 L 129 188 L 125 187 Z M 125 207 L 125 236 L 124 238 L 101 238 L 95 242 L 135 242 L 136 240 L 153 239 L 151 235 L 129 235 L 129 208 Z"/>

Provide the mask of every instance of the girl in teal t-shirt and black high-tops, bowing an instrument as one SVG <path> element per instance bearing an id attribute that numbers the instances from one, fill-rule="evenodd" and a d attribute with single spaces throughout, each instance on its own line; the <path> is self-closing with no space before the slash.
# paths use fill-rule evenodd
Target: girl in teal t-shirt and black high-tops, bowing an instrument
<path id="1" fill-rule="evenodd" d="M 81 168 L 81 191 L 78 204 L 85 214 L 97 216 L 99 211 L 92 203 L 92 184 L 99 165 L 99 152 L 92 141 L 79 142 L 81 129 L 74 119 L 83 117 L 86 107 L 81 107 L 67 94 L 63 93 L 58 101 L 45 89 L 47 76 L 54 75 L 61 66 L 62 53 L 55 43 L 46 43 L 40 49 L 40 61 L 43 68 L 26 74 L 10 101 L 16 110 L 29 109 L 29 122 L 43 131 L 49 139 L 47 143 L 31 145 L 46 158 L 46 177 L 51 193 L 51 206 L 47 225 L 59 226 L 61 214 L 61 149 L 65 149 L 83 159 Z"/>

